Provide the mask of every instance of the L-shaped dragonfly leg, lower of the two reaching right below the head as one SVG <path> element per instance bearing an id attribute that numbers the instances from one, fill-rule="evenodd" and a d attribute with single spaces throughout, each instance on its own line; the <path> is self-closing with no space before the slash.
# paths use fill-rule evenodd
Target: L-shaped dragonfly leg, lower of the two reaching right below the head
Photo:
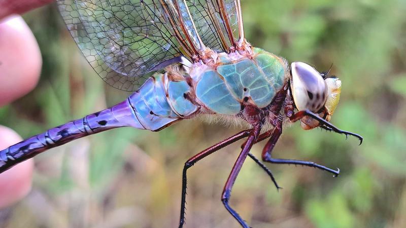
<path id="1" fill-rule="evenodd" d="M 314 168 L 318 168 L 318 169 L 330 172 L 330 173 L 334 174 L 334 176 L 338 176 L 340 174 L 340 169 L 333 170 L 333 169 L 319 165 L 314 162 L 292 160 L 292 159 L 272 158 L 272 150 L 274 149 L 281 134 L 282 134 L 282 121 L 277 123 L 277 125 L 275 126 L 275 128 L 273 130 L 272 135 L 269 138 L 269 141 L 266 143 L 265 147 L 262 150 L 262 160 L 264 162 L 276 163 L 276 164 L 291 164 L 291 165 L 309 166 L 309 167 L 314 167 Z"/>

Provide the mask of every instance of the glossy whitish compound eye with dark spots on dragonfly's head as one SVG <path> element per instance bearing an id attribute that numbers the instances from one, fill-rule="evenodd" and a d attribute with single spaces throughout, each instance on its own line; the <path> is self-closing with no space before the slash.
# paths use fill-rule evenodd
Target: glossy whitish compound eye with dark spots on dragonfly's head
<path id="1" fill-rule="evenodd" d="M 317 112 L 326 103 L 326 82 L 315 68 L 306 63 L 291 64 L 290 87 L 299 111 L 309 109 Z"/>

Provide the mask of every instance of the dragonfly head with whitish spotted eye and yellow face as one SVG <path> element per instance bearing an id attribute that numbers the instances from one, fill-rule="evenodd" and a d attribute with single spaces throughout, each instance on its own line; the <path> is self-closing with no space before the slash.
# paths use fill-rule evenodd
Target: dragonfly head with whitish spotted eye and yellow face
<path id="1" fill-rule="evenodd" d="M 340 100 L 341 81 L 336 77 L 327 77 L 312 66 L 303 62 L 293 62 L 290 68 L 290 89 L 297 110 L 306 110 L 318 114 L 330 121 Z M 300 126 L 310 130 L 320 126 L 311 117 L 303 117 Z"/>

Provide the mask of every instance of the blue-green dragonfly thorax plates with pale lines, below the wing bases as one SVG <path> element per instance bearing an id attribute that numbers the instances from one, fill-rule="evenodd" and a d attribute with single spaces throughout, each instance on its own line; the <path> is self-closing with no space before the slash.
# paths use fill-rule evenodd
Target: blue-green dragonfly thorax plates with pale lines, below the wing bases
<path id="1" fill-rule="evenodd" d="M 215 64 L 194 64 L 190 76 L 198 103 L 219 114 L 236 115 L 244 104 L 268 106 L 282 89 L 286 70 L 283 59 L 254 48 L 249 57 L 219 53 Z"/>

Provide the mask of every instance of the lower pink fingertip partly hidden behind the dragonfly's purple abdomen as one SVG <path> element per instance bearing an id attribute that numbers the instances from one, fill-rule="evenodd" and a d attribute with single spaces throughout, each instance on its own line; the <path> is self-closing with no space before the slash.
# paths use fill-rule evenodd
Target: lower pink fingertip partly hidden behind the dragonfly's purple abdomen
<path id="1" fill-rule="evenodd" d="M 0 126 L 0 149 L 21 141 L 21 137 L 10 128 Z M 33 161 L 27 160 L 0 174 L 0 208 L 7 207 L 31 189 Z"/>

